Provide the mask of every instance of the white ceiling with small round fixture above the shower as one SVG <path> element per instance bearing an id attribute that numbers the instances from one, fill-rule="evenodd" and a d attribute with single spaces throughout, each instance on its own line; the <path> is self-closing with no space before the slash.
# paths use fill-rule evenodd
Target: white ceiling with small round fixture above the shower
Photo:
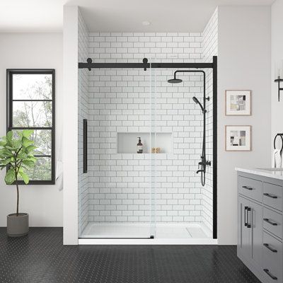
<path id="1" fill-rule="evenodd" d="M 79 5 L 90 31 L 202 31 L 216 6 L 275 0 L 0 0 L 0 32 L 62 31 L 63 6 Z M 149 21 L 151 25 L 141 23 Z"/>

